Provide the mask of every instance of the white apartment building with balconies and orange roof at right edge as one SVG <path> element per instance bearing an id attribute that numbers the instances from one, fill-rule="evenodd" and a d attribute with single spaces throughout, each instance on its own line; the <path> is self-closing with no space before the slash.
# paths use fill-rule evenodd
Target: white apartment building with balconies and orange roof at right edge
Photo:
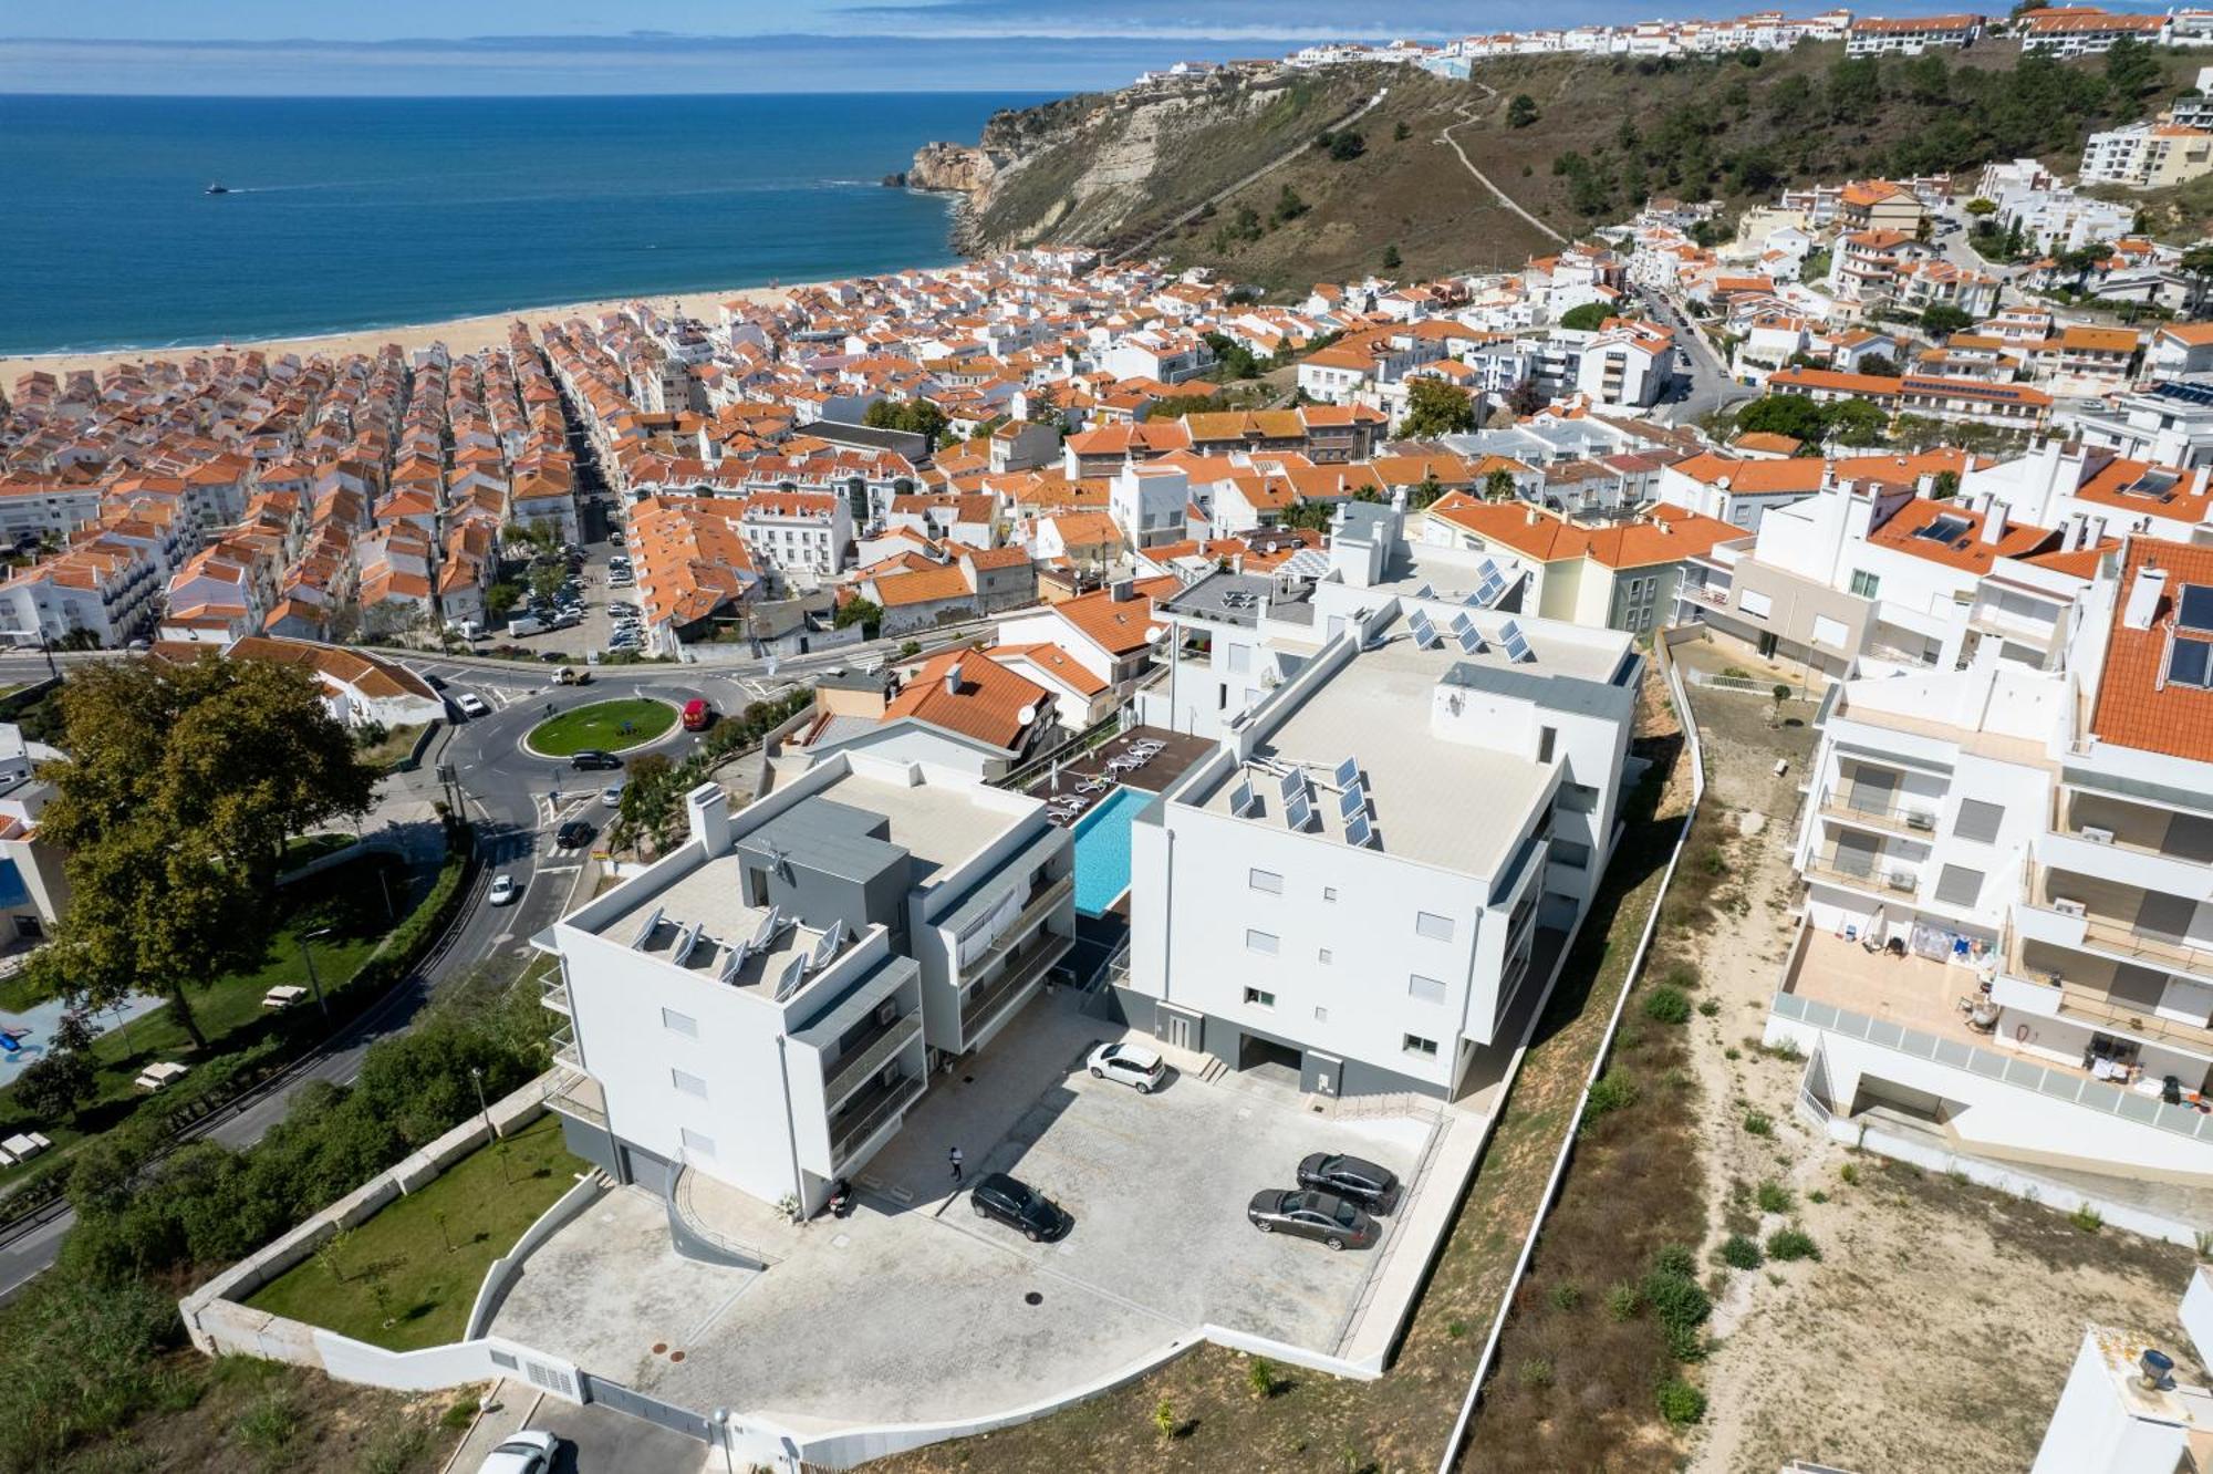
<path id="1" fill-rule="evenodd" d="M 2107 553 L 2060 671 L 1976 651 L 1839 684 L 1795 859 L 1806 930 L 1768 1040 L 1808 1051 L 1835 1133 L 2058 1171 L 2189 1242 L 2096 1182 L 2213 1184 L 2195 1109 L 2213 1084 L 2213 549 Z"/>

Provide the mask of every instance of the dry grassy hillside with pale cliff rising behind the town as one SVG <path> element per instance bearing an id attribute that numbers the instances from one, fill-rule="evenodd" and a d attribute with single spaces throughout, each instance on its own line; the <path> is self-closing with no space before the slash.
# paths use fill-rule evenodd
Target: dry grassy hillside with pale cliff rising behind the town
<path id="1" fill-rule="evenodd" d="M 1175 100 L 1093 95 L 991 122 L 1000 170 L 969 201 L 965 239 L 1144 246 L 1272 290 L 1514 266 L 1547 232 L 1624 219 L 1651 195 L 1742 206 L 1790 184 L 2001 157 L 2065 168 L 2089 128 L 2149 115 L 2198 64 L 2155 51 L 2063 64 L 2014 44 L 1874 60 L 1806 44 L 1720 60 L 1514 58 L 1467 82 L 1346 66 Z M 1376 93 L 1350 128 L 1337 124 Z"/>

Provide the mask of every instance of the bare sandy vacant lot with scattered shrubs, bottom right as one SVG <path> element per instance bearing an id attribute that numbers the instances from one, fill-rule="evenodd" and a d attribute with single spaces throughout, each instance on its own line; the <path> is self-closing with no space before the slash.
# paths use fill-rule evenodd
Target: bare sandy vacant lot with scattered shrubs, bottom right
<path id="1" fill-rule="evenodd" d="M 1691 664 L 1773 679 L 1742 653 L 1700 651 Z M 1764 695 L 1700 686 L 1693 706 L 1708 803 L 1737 819 L 1728 903 L 1697 992 L 1720 1011 L 1691 1020 L 1715 1226 L 1706 1248 L 1797 1222 L 1821 1259 L 1715 1270 L 1726 1288 L 1702 1377 L 1711 1412 L 1689 1467 L 1773 1474 L 1810 1459 L 1859 1474 L 2018 1472 L 2093 1319 L 2164 1337 L 2195 1370 L 2175 1324 L 2186 1250 L 2113 1228 L 2080 1233 L 2036 1204 L 1846 1151 L 1799 1122 L 1804 1062 L 1762 1056 L 1757 1042 L 1795 930 L 1788 850 L 1815 708 L 1793 702 L 1786 726 L 1770 728 Z M 1773 775 L 1777 757 L 1790 759 L 1784 777 Z M 1755 1111 L 1773 1135 L 1746 1129 Z M 1786 1186 L 1790 1208 L 1762 1213 L 1762 1182 Z"/>

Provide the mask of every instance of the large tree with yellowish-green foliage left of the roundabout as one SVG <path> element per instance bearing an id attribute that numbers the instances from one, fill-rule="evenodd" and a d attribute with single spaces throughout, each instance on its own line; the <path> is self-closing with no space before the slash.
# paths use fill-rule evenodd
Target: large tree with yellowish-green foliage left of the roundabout
<path id="1" fill-rule="evenodd" d="M 69 912 L 33 980 L 93 1007 L 159 992 L 195 1045 L 190 996 L 259 967 L 285 841 L 365 812 L 376 772 L 308 673 L 212 651 L 80 666 L 60 693 L 66 764 L 42 837 Z"/>

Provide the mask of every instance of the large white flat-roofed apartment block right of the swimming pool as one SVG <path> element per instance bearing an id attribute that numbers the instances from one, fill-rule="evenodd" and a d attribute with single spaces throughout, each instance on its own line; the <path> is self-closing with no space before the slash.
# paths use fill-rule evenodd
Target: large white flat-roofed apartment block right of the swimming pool
<path id="1" fill-rule="evenodd" d="M 1596 892 L 1644 662 L 1615 631 L 1368 604 L 1137 814 L 1113 998 L 1308 1093 L 1450 1098 Z"/>

